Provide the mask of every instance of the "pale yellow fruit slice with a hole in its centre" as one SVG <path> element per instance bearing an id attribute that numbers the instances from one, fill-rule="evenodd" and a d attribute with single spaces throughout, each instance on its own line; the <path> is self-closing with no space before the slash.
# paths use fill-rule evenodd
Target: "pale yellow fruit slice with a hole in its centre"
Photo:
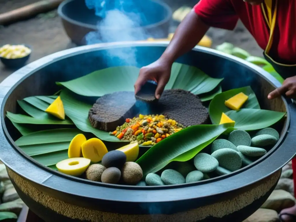
<path id="1" fill-rule="evenodd" d="M 56 167 L 61 173 L 71 176 L 80 176 L 87 170 L 90 163 L 90 159 L 78 157 L 62 160 L 56 164 Z"/>

